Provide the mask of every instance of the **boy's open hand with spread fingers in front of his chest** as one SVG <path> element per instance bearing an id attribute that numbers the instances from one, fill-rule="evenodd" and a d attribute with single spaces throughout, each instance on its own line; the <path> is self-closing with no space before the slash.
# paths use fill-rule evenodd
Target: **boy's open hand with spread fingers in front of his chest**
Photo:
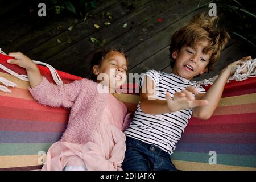
<path id="1" fill-rule="evenodd" d="M 192 93 L 197 93 L 197 89 L 193 86 L 187 86 L 181 92 L 176 92 L 174 97 L 170 97 L 170 93 L 166 93 L 167 105 L 170 112 L 175 112 L 183 109 L 204 106 L 208 104 L 207 100 L 195 100 Z"/>

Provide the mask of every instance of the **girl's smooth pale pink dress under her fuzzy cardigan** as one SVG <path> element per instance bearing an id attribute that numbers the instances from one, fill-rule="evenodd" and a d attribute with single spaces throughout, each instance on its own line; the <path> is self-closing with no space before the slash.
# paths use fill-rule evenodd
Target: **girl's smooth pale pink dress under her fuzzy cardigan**
<path id="1" fill-rule="evenodd" d="M 87 170 L 122 170 L 125 155 L 125 134 L 122 132 L 127 107 L 112 94 L 106 97 L 101 122 L 85 144 L 56 142 L 49 148 L 42 170 L 62 170 L 65 166 L 85 166 Z"/>

